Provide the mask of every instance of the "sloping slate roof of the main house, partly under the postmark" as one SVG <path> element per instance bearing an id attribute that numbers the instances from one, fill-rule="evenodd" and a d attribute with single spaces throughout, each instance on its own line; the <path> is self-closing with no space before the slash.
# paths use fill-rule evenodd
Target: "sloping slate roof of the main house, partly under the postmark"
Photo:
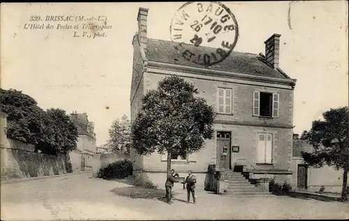
<path id="1" fill-rule="evenodd" d="M 279 70 L 274 70 L 274 68 L 267 65 L 264 57 L 260 56 L 259 54 L 232 51 L 225 60 L 221 61 L 221 63 L 205 67 L 200 64 L 187 61 L 179 52 L 177 52 L 177 49 L 174 48 L 175 45 L 177 45 L 177 43 L 172 41 L 148 38 L 146 50 L 147 59 L 149 61 L 158 61 L 181 66 L 207 68 L 209 70 L 221 70 L 231 73 L 290 79 L 290 77 L 285 75 L 285 73 L 282 73 Z M 195 54 L 210 54 L 211 52 L 216 51 L 216 49 L 212 47 L 196 47 L 194 45 L 187 44 L 184 45 Z M 174 61 L 174 59 L 177 59 L 177 61 Z"/>

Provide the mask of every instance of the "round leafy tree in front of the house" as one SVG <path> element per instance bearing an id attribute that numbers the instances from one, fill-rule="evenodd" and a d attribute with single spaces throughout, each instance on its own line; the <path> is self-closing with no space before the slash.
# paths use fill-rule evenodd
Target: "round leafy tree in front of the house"
<path id="1" fill-rule="evenodd" d="M 213 136 L 213 108 L 198 90 L 184 79 L 172 76 L 158 83 L 142 98 L 142 109 L 132 125 L 132 146 L 140 155 L 157 151 L 168 153 L 170 174 L 171 153 L 195 153 Z"/>

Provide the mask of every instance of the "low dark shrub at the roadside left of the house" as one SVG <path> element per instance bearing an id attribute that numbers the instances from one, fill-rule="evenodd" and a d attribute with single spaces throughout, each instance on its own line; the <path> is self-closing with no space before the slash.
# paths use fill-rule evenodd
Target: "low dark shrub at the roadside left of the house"
<path id="1" fill-rule="evenodd" d="M 130 160 L 118 160 L 112 162 L 107 167 L 103 167 L 98 171 L 98 178 L 110 179 L 110 178 L 126 178 L 132 175 L 133 167 Z"/>

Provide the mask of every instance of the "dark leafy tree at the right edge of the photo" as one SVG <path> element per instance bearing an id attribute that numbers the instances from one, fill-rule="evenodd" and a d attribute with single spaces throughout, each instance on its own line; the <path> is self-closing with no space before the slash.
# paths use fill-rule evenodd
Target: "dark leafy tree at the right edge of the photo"
<path id="1" fill-rule="evenodd" d="M 343 200 L 348 200 L 348 114 L 348 107 L 339 107 L 323 113 L 324 121 L 313 121 L 311 130 L 304 133 L 304 139 L 314 150 L 312 153 L 302 152 L 304 161 L 313 167 L 329 165 L 343 169 Z"/>

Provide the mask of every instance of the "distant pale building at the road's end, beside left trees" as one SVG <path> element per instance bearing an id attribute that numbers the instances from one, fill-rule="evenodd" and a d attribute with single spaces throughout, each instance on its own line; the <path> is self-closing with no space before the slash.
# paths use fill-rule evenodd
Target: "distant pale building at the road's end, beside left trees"
<path id="1" fill-rule="evenodd" d="M 77 128 L 77 148 L 70 152 L 73 172 L 92 171 L 94 155 L 96 154 L 96 134 L 94 122 L 89 122 L 86 113 L 70 114 L 70 120 Z"/>

